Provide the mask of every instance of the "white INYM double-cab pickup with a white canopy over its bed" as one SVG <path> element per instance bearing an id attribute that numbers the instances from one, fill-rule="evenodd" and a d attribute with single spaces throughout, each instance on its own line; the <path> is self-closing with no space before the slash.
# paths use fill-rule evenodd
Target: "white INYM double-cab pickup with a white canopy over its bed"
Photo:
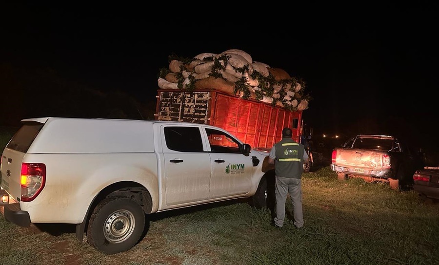
<path id="1" fill-rule="evenodd" d="M 274 176 L 262 169 L 268 153 L 220 128 L 59 117 L 21 122 L 0 165 L 0 211 L 18 226 L 76 224 L 80 242 L 85 233 L 91 246 L 114 254 L 138 243 L 151 213 L 243 197 L 266 207 Z"/>

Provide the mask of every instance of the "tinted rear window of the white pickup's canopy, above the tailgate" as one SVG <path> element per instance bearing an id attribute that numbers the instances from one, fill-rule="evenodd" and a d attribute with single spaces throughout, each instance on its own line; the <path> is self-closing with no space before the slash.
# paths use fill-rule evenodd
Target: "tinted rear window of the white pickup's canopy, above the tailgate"
<path id="1" fill-rule="evenodd" d="M 44 124 L 40 122 L 26 122 L 14 136 L 12 136 L 6 148 L 23 153 L 27 152 L 43 125 Z"/>

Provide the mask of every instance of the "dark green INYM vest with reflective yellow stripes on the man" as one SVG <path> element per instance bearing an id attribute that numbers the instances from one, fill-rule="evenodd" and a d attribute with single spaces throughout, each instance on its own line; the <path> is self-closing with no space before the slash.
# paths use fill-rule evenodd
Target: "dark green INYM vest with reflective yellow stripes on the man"
<path id="1" fill-rule="evenodd" d="M 276 176 L 301 178 L 303 172 L 303 153 L 305 148 L 291 138 L 282 138 L 276 146 Z"/>

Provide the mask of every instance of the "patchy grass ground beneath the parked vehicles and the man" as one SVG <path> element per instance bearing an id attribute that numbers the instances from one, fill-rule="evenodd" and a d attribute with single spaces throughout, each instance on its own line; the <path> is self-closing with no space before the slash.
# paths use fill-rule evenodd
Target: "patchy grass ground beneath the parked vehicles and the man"
<path id="1" fill-rule="evenodd" d="M 291 220 L 275 229 L 269 210 L 229 201 L 152 214 L 138 245 L 107 256 L 77 242 L 74 226 L 23 228 L 0 216 L 0 264 L 439 264 L 438 204 L 381 183 L 340 182 L 328 167 L 302 179 L 302 229 Z"/>

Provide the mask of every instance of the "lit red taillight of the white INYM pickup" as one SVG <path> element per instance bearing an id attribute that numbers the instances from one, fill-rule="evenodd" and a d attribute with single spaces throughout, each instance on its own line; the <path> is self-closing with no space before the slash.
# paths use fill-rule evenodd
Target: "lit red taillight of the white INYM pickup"
<path id="1" fill-rule="evenodd" d="M 44 188 L 46 165 L 40 163 L 21 164 L 21 198 L 23 202 L 34 200 Z"/>

